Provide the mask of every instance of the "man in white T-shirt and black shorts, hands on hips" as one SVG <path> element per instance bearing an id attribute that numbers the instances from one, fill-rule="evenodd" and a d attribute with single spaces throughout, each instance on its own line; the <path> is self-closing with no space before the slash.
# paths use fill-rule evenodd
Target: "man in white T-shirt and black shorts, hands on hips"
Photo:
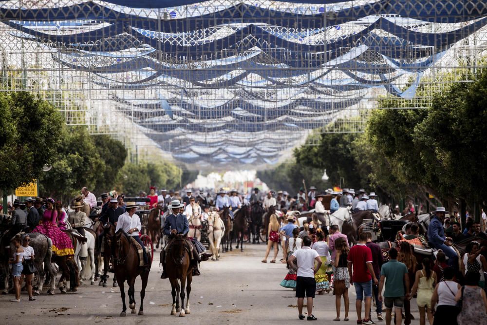
<path id="1" fill-rule="evenodd" d="M 308 308 L 308 321 L 316 320 L 313 316 L 313 298 L 315 298 L 316 280 L 315 273 L 321 267 L 321 258 L 318 252 L 311 249 L 311 238 L 304 237 L 302 240 L 302 248 L 296 249 L 294 253 L 289 256 L 288 263 L 291 268 L 297 269 L 298 274 L 296 278 L 296 298 L 298 298 L 298 316 L 299 319 L 304 319 L 303 304 L 304 296 L 306 296 L 306 306 Z M 297 262 L 297 266 L 294 261 Z M 315 267 L 316 261 L 316 267 Z"/>

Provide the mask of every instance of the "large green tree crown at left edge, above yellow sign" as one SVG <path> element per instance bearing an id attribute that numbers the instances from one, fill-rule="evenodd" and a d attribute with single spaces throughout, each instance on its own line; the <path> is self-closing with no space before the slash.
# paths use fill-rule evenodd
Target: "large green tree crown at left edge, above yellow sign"
<path id="1" fill-rule="evenodd" d="M 53 164 L 62 120 L 47 102 L 30 93 L 0 94 L 0 189 L 15 189 L 39 179 Z"/>

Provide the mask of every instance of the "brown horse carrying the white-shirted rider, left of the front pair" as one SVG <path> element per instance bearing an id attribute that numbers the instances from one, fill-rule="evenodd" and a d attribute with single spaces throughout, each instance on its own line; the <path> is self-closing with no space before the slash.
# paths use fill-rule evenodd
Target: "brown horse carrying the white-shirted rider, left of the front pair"
<path id="1" fill-rule="evenodd" d="M 127 306 L 125 305 L 125 289 L 124 283 L 127 281 L 129 285 L 129 307 L 132 309 L 131 313 L 135 314 L 135 279 L 140 275 L 142 279 L 142 288 L 140 290 L 140 309 L 139 315 L 144 315 L 144 297 L 146 295 L 147 280 L 149 279 L 149 270 L 144 271 L 140 266 L 138 249 L 132 243 L 132 239 L 122 229 L 118 230 L 111 241 L 112 255 L 113 255 L 113 270 L 115 271 L 115 278 L 120 287 L 120 295 L 122 296 L 122 312 L 120 316 L 126 316 Z M 144 249 L 144 248 L 142 248 Z M 149 260 L 149 267 L 152 261 Z"/>

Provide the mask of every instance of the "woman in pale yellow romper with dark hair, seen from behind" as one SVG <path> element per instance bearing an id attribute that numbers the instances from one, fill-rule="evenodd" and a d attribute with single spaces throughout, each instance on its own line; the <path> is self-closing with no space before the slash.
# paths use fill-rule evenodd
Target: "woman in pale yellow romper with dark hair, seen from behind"
<path id="1" fill-rule="evenodd" d="M 424 258 L 421 262 L 422 270 L 416 272 L 416 279 L 412 286 L 411 296 L 416 293 L 416 303 L 419 307 L 419 324 L 425 325 L 426 313 L 428 313 L 428 322 L 433 325 L 433 313 L 431 311 L 431 298 L 433 297 L 433 288 L 436 286 L 436 273 L 431 269 L 429 258 Z"/>

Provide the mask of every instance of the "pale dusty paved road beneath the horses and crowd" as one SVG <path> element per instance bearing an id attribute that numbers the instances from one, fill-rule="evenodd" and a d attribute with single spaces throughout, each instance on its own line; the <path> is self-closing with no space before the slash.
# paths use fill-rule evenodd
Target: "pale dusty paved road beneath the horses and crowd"
<path id="1" fill-rule="evenodd" d="M 37 302 L 29 302 L 25 293 L 22 293 L 20 304 L 9 302 L 12 295 L 2 295 L 0 319 L 3 324 L 295 323 L 298 320 L 298 311 L 294 292 L 279 286 L 287 270 L 282 264 L 261 263 L 264 249 L 263 245 L 247 245 L 244 253 L 234 250 L 222 254 L 218 262 L 203 262 L 202 275 L 193 280 L 191 314 L 186 318 L 169 315 L 172 304 L 170 284 L 168 280 L 160 279 L 156 254 L 146 291 L 144 316 L 130 313 L 125 318 L 118 316 L 122 309 L 118 287 L 83 285 L 76 293 L 38 296 Z M 110 275 L 112 277 L 112 273 Z M 139 290 L 140 280 L 137 280 L 137 304 L 140 302 Z M 345 324 L 356 323 L 355 292 L 351 294 L 350 300 L 350 322 Z M 335 297 L 331 293 L 317 296 L 314 305 L 313 313 L 319 321 L 324 321 L 325 324 L 337 323 L 332 322 L 335 318 Z M 412 313 L 416 318 L 412 324 L 419 324 L 415 301 L 412 301 L 412 306 Z M 343 315 L 342 311 L 341 316 Z M 385 324 L 378 321 L 376 323 Z"/>

